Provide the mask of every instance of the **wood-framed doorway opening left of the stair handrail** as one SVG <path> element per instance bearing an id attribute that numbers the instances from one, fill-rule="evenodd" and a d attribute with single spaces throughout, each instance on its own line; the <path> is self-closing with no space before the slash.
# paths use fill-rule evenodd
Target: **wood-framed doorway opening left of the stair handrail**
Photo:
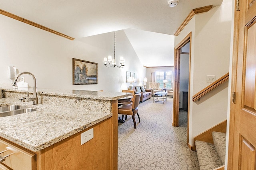
<path id="1" fill-rule="evenodd" d="M 180 121 L 186 121 L 189 127 L 191 35 L 190 32 L 174 49 L 173 126 L 184 124 L 184 122 L 179 123 L 179 114 L 182 110 L 187 111 L 187 117 Z"/>

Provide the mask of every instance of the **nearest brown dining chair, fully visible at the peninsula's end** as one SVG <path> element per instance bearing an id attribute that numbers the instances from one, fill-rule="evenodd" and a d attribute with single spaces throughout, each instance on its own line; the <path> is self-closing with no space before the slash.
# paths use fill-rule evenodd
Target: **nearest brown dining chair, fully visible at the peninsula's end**
<path id="1" fill-rule="evenodd" d="M 140 116 L 138 113 L 138 110 L 139 110 L 138 106 L 140 104 L 140 95 L 141 95 L 140 93 L 134 95 L 132 105 L 121 105 L 118 107 L 118 114 L 132 116 L 132 120 L 134 123 L 134 129 L 136 129 L 136 121 L 135 121 L 136 114 L 138 115 L 139 122 L 140 122 Z"/>

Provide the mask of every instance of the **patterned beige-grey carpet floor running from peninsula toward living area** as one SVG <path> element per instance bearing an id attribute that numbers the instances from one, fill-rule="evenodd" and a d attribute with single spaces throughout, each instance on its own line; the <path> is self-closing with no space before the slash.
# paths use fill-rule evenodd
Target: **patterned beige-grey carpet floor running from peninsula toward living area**
<path id="1" fill-rule="evenodd" d="M 118 170 L 199 170 L 196 152 L 186 145 L 187 123 L 172 126 L 172 98 L 139 105 L 137 129 L 131 116 L 118 125 Z"/>

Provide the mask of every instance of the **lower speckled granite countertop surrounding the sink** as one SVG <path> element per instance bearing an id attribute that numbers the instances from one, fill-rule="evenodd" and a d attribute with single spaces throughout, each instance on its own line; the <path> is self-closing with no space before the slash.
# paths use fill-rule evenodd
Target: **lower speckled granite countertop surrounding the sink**
<path id="1" fill-rule="evenodd" d="M 76 95 L 72 93 L 72 90 L 66 94 Z M 87 92 L 84 95 L 86 94 Z M 12 104 L 40 110 L 0 117 L 0 137 L 34 152 L 49 147 L 112 116 L 112 113 L 86 112 L 83 109 L 48 104 L 32 105 L 31 102 L 20 103 L 14 99 L 0 99 L 0 106 Z"/>

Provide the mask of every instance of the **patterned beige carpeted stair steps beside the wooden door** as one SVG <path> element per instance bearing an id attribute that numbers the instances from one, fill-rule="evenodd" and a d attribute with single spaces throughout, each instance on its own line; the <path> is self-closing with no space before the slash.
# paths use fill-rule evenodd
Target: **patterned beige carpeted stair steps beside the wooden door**
<path id="1" fill-rule="evenodd" d="M 220 169 L 226 156 L 226 133 L 212 132 L 214 145 L 195 141 L 200 170 Z"/>

